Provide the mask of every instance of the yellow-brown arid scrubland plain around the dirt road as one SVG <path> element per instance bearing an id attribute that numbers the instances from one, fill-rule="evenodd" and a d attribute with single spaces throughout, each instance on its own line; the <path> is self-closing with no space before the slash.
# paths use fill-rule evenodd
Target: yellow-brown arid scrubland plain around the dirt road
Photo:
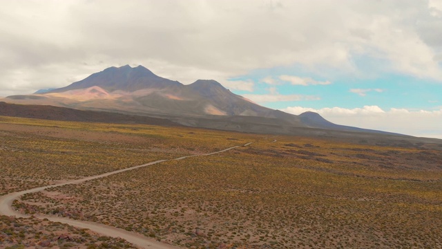
<path id="1" fill-rule="evenodd" d="M 240 146 L 26 194 L 13 206 L 182 248 L 442 248 L 442 147 L 378 139 L 1 117 L 0 195 Z M 1 216 L 0 228 L 0 248 L 131 247 L 35 218 Z"/>

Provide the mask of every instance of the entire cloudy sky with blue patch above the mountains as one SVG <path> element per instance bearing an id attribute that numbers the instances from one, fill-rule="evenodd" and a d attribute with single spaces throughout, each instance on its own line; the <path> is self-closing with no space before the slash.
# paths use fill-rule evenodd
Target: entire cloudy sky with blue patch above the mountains
<path id="1" fill-rule="evenodd" d="M 3 0 L 0 96 L 143 65 L 288 113 L 442 138 L 442 0 Z"/>

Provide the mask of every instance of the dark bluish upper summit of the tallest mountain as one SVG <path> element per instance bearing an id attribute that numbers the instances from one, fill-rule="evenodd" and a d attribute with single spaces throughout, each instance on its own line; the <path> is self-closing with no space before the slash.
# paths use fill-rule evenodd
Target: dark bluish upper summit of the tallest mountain
<path id="1" fill-rule="evenodd" d="M 157 76 L 144 66 L 137 66 L 131 68 L 126 65 L 119 68 L 115 66 L 106 68 L 104 71 L 94 73 L 84 80 L 74 82 L 69 86 L 48 91 L 47 93 L 61 93 L 64 91 L 75 89 L 87 89 L 92 86 L 100 86 L 106 91 L 137 91 L 141 89 L 159 88 L 181 86 L 180 82 L 167 80 L 163 77 Z"/>

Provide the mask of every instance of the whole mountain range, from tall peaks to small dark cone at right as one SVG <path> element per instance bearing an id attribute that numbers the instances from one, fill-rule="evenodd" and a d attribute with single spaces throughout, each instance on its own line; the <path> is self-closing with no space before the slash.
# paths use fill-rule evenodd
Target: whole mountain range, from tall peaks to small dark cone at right
<path id="1" fill-rule="evenodd" d="M 106 68 L 59 89 L 13 95 L 3 101 L 167 118 L 193 127 L 258 133 L 294 133 L 297 127 L 378 132 L 333 124 L 318 113 L 296 116 L 269 109 L 231 93 L 215 80 L 184 85 L 157 76 L 144 66 Z"/>

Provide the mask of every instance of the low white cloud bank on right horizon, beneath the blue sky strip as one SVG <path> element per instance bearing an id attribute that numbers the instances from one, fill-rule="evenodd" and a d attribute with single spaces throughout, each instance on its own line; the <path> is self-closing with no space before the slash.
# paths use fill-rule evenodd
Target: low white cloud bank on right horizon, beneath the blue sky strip
<path id="1" fill-rule="evenodd" d="M 286 109 L 281 109 L 281 111 L 296 115 L 305 111 L 314 111 L 336 124 L 403 133 L 412 136 L 442 138 L 442 107 L 432 111 L 396 108 L 384 111 L 378 106 L 365 106 L 354 109 L 341 107 L 323 109 L 287 107 Z"/>

